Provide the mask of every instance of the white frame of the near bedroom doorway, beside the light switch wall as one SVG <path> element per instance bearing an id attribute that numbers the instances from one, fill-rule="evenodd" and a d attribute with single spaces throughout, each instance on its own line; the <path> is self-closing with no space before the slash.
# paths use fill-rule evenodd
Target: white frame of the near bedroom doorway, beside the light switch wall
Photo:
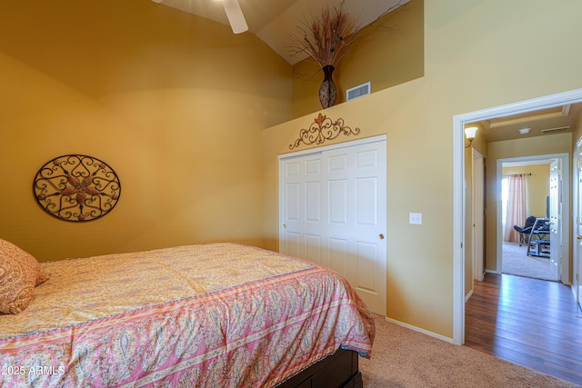
<path id="1" fill-rule="evenodd" d="M 465 124 L 582 102 L 582 89 L 453 116 L 453 342 L 465 343 Z"/>

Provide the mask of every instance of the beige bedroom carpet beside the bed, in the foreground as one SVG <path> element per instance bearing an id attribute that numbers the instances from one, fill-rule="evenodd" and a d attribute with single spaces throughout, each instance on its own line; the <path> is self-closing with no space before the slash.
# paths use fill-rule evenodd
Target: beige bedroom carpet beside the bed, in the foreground
<path id="1" fill-rule="evenodd" d="M 360 357 L 364 388 L 580 386 L 375 317 L 372 358 Z"/>

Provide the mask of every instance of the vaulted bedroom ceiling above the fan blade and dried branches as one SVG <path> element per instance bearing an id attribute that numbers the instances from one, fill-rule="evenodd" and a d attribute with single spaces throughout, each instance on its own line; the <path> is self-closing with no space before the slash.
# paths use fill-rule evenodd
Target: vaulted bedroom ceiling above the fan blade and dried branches
<path id="1" fill-rule="evenodd" d="M 154 0 L 161 5 L 199 15 L 228 25 L 225 9 L 220 0 Z M 405 5 L 409 0 L 238 0 L 248 25 L 255 34 L 286 61 L 295 65 L 305 56 L 291 56 L 286 49 L 287 36 L 296 31 L 296 25 L 311 21 L 325 5 L 338 7 L 353 15 L 359 26 L 369 25 L 395 5 Z"/>

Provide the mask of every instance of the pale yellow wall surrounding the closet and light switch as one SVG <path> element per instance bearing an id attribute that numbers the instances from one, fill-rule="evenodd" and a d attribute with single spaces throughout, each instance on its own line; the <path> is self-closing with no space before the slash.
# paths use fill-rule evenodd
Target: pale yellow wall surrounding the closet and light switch
<path id="1" fill-rule="evenodd" d="M 453 116 L 582 87 L 582 53 L 568 43 L 582 33 L 582 2 L 447 0 L 424 6 L 425 76 L 325 114 L 361 128 L 359 137 L 387 136 L 388 316 L 452 337 Z M 366 57 L 358 60 L 366 63 Z M 315 116 L 265 131 L 271 247 L 276 156 L 289 152 L 288 144 Z M 409 212 L 422 213 L 424 224 L 409 225 Z"/>

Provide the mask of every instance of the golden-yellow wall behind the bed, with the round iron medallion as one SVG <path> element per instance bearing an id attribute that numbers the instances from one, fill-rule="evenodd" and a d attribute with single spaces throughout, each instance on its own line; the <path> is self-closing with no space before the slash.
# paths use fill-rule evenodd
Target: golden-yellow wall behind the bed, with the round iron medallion
<path id="1" fill-rule="evenodd" d="M 1 5 L 1 237 L 39 260 L 263 244 L 262 130 L 290 118 L 290 65 L 147 0 Z M 35 203 L 36 171 L 61 154 L 115 169 L 110 214 L 69 223 Z"/>

